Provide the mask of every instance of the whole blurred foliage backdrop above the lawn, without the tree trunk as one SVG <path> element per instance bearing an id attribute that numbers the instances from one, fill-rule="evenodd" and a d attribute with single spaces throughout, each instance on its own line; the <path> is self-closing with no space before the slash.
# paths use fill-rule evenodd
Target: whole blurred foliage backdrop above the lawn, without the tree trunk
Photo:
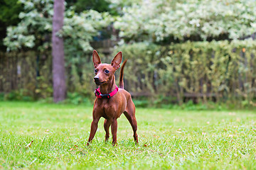
<path id="1" fill-rule="evenodd" d="M 0 100 L 52 101 L 53 0 L 0 4 Z M 66 102 L 92 102 L 95 49 L 137 106 L 255 107 L 255 30 L 255 0 L 65 1 Z"/>

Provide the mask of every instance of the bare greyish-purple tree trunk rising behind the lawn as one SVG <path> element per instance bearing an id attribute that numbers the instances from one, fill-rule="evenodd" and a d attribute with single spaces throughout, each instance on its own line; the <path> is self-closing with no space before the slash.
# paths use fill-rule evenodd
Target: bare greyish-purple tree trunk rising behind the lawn
<path id="1" fill-rule="evenodd" d="M 53 6 L 53 101 L 58 103 L 66 96 L 63 38 L 56 35 L 63 28 L 64 0 L 55 0 Z"/>

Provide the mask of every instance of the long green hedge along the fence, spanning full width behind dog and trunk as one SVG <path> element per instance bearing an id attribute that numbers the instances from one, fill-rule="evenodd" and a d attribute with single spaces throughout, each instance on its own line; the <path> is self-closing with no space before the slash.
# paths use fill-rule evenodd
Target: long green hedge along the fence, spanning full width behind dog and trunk
<path id="1" fill-rule="evenodd" d="M 168 46 L 140 42 L 116 47 L 111 56 L 100 52 L 102 62 L 110 63 L 118 51 L 128 59 L 124 68 L 124 88 L 135 99 L 153 101 L 156 105 L 182 104 L 190 99 L 195 102 L 239 101 L 242 105 L 250 105 L 255 99 L 254 40 L 185 42 Z M 16 91 L 7 95 L 7 99 L 15 99 L 15 94 L 19 98 L 25 95 L 34 99 L 52 96 L 51 56 L 50 52 L 47 54 L 39 55 L 38 62 L 36 52 L 5 57 L 2 54 L 0 92 Z M 75 103 L 84 101 L 85 97 L 93 99 L 96 86 L 91 54 L 67 61 L 68 96 Z M 16 74 L 18 65 L 21 75 Z M 40 77 L 36 77 L 36 68 Z"/>

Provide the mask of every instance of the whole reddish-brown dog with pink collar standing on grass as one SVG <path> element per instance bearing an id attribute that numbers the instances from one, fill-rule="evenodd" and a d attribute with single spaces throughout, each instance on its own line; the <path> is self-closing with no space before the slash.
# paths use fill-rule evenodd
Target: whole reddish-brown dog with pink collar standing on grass
<path id="1" fill-rule="evenodd" d="M 132 125 L 134 132 L 134 141 L 138 143 L 137 135 L 137 120 L 135 118 L 135 106 L 132 102 L 132 97 L 124 90 L 124 65 L 127 60 L 122 64 L 120 78 L 119 78 L 119 89 L 115 84 L 114 72 L 120 67 L 122 62 L 122 52 L 118 52 L 112 60 L 111 64 L 102 64 L 97 51 L 94 50 L 92 53 L 92 61 L 95 67 L 94 77 L 95 84 L 100 86 L 99 89 L 95 89 L 95 103 L 92 111 L 92 125 L 90 130 L 90 137 L 87 145 L 92 141 L 97 130 L 97 123 L 100 118 L 105 118 L 104 129 L 106 131 L 105 141 L 110 137 L 110 125 L 112 132 L 112 144 L 115 145 L 117 142 L 117 118 L 122 113 L 129 120 Z"/>

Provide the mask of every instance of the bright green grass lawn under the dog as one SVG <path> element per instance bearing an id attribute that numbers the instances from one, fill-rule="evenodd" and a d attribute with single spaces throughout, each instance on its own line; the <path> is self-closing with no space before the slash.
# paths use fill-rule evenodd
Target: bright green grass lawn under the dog
<path id="1" fill-rule="evenodd" d="M 116 147 L 104 142 L 103 119 L 87 147 L 91 121 L 92 106 L 0 102 L 0 169 L 256 167 L 255 111 L 137 108 L 137 146 L 122 115 Z"/>

